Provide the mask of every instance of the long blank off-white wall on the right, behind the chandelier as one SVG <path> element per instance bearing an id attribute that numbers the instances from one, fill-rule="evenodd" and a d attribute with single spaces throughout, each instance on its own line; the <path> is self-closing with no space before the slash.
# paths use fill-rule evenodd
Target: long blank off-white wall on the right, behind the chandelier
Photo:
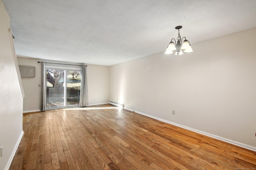
<path id="1" fill-rule="evenodd" d="M 255 39 L 256 28 L 110 66 L 110 101 L 256 147 Z"/>

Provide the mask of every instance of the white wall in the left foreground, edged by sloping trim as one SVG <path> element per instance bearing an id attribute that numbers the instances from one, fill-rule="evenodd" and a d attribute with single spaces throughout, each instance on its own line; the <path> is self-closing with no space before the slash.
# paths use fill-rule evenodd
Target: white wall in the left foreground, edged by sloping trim
<path id="1" fill-rule="evenodd" d="M 0 170 L 7 170 L 23 134 L 23 97 L 9 37 L 10 17 L 1 0 L 0 23 Z"/>

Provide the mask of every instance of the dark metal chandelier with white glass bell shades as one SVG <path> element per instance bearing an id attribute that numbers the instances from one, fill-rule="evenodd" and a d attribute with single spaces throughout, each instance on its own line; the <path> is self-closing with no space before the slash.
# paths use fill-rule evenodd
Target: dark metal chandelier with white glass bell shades
<path id="1" fill-rule="evenodd" d="M 183 54 L 182 49 L 184 50 L 185 53 L 193 52 L 192 47 L 191 47 L 189 41 L 186 39 L 186 37 L 181 38 L 181 36 L 180 36 L 181 28 L 182 28 L 182 26 L 175 27 L 175 29 L 178 29 L 177 43 L 176 43 L 176 40 L 174 38 L 172 38 L 172 39 L 174 39 L 174 42 L 176 45 L 174 44 L 174 42 L 171 39 L 171 42 L 169 43 L 164 54 L 172 54 L 173 53 L 172 51 L 176 50 L 175 55 L 182 55 Z M 185 38 L 185 39 L 182 43 L 183 38 Z"/>

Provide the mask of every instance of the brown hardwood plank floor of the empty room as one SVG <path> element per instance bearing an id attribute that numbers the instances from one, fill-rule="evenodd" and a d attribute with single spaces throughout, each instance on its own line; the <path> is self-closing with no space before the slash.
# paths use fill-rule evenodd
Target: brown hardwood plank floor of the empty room
<path id="1" fill-rule="evenodd" d="M 24 114 L 23 130 L 10 170 L 256 169 L 254 151 L 121 108 Z"/>

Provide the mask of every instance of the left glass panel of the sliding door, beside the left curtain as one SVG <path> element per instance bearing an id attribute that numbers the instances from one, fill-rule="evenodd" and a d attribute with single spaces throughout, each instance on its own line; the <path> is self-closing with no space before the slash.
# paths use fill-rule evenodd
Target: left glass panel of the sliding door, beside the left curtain
<path id="1" fill-rule="evenodd" d="M 46 69 L 46 107 L 66 106 L 66 71 Z"/>

